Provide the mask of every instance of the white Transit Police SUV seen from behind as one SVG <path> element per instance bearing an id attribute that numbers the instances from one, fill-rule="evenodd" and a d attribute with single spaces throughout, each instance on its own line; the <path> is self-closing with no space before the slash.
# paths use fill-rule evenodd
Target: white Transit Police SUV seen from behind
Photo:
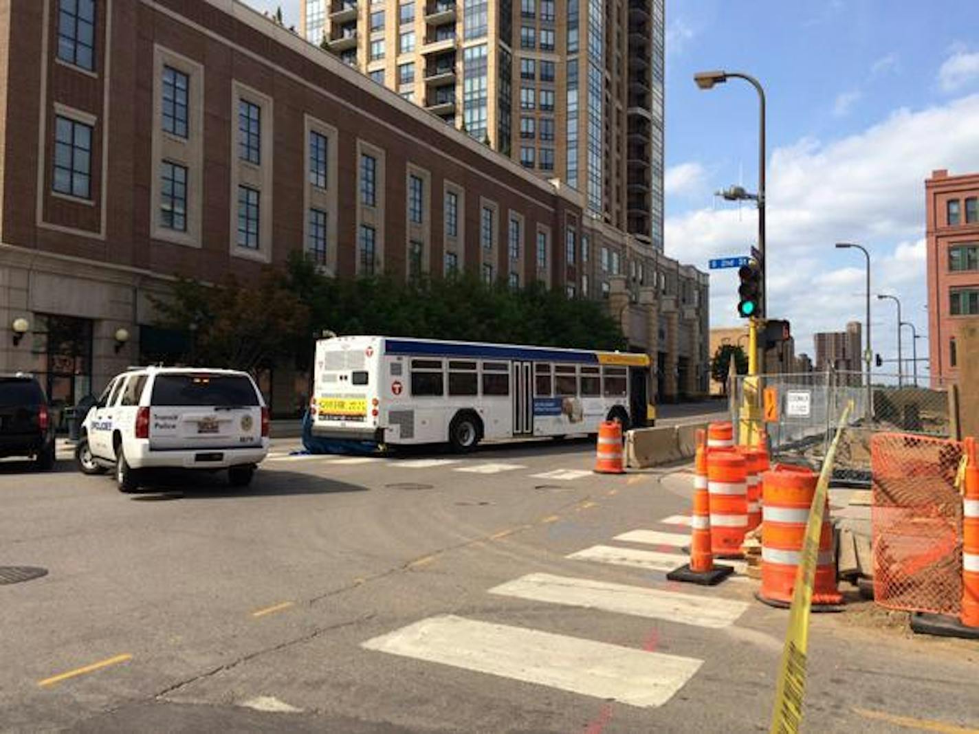
<path id="1" fill-rule="evenodd" d="M 140 367 L 118 375 L 81 425 L 75 462 L 84 474 L 115 468 L 135 490 L 147 470 L 228 470 L 252 481 L 268 453 L 268 408 L 245 372 Z"/>

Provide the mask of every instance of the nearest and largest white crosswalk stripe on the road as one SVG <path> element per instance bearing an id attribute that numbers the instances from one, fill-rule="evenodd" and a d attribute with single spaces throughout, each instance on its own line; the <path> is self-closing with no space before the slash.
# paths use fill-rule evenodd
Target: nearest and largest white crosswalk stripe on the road
<path id="1" fill-rule="evenodd" d="M 703 663 L 453 615 L 422 619 L 361 646 L 636 707 L 664 705 Z"/>

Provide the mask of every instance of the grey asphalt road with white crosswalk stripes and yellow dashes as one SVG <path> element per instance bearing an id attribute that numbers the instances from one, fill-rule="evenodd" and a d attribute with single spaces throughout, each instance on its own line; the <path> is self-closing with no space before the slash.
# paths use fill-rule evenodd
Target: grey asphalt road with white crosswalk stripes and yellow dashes
<path id="1" fill-rule="evenodd" d="M 768 730 L 787 613 L 745 577 L 620 565 L 682 553 L 683 468 L 594 475 L 583 440 L 294 443 L 246 490 L 0 464 L 0 566 L 48 571 L 0 585 L 0 728 Z M 617 538 L 636 529 L 656 534 Z M 882 618 L 814 619 L 806 730 L 979 726 L 979 647 Z"/>

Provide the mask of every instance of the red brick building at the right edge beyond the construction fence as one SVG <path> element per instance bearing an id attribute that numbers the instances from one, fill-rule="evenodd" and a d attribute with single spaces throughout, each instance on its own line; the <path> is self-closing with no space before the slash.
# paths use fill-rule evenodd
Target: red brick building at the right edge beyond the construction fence
<path id="1" fill-rule="evenodd" d="M 958 377 L 956 332 L 979 316 L 979 173 L 932 171 L 924 182 L 932 386 Z"/>

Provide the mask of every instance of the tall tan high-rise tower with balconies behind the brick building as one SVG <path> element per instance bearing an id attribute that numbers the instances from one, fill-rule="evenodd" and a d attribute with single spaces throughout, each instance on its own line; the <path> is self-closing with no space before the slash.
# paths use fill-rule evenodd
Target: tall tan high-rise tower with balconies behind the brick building
<path id="1" fill-rule="evenodd" d="M 303 36 L 663 250 L 664 0 L 303 0 Z"/>

